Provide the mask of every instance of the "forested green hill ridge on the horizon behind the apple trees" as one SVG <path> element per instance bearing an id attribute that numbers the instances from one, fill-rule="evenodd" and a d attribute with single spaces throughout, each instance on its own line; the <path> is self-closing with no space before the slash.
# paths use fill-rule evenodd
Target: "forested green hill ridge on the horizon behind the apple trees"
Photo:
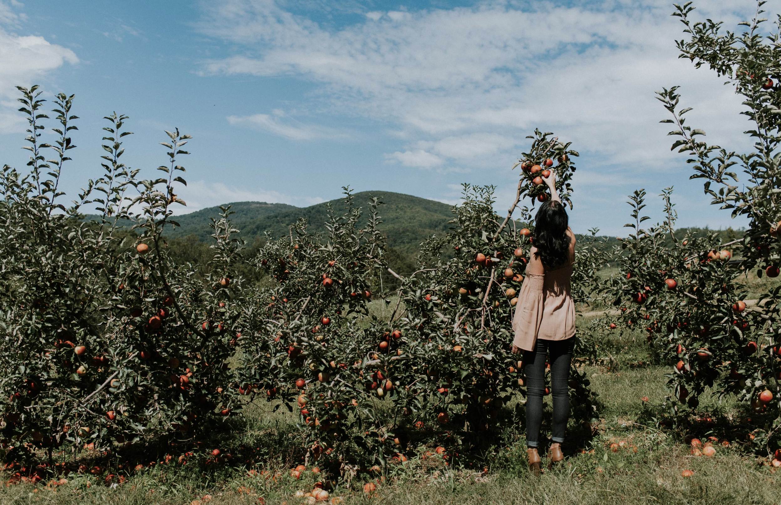
<path id="1" fill-rule="evenodd" d="M 366 203 L 369 198 L 381 197 L 384 204 L 380 206 L 382 220 L 380 230 L 387 236 L 388 245 L 402 254 L 415 254 L 419 244 L 428 236 L 444 236 L 448 233 L 448 221 L 454 217 L 450 205 L 408 194 L 362 191 L 353 196 L 353 204 L 363 208 L 365 215 L 369 207 Z M 251 243 L 256 236 L 262 236 L 265 231 L 277 237 L 287 235 L 290 233 L 290 226 L 301 217 L 308 220 L 309 229 L 313 232 L 326 232 L 324 226 L 328 219 L 326 204 L 331 204 L 337 215 L 341 215 L 344 210 L 344 201 L 341 198 L 305 208 L 257 201 L 241 201 L 230 205 L 231 210 L 236 212 L 232 216 L 234 226 L 240 229 L 244 239 Z M 169 233 L 169 236 L 181 238 L 195 235 L 201 240 L 208 240 L 212 234 L 209 228 L 209 217 L 217 215 L 219 215 L 217 207 L 177 215 L 174 219 L 181 226 Z"/>

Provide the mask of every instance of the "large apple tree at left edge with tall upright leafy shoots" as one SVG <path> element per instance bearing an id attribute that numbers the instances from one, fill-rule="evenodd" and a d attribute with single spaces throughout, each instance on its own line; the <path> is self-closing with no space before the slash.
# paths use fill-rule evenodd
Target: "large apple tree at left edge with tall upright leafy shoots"
<path id="1" fill-rule="evenodd" d="M 0 173 L 3 238 L 0 434 L 6 457 L 71 445 L 108 450 L 172 433 L 199 432 L 233 404 L 226 360 L 239 293 L 231 265 L 241 244 L 227 213 L 214 222 L 215 272 L 196 279 L 166 253 L 171 205 L 185 183 L 177 157 L 189 138 L 164 142 L 165 175 L 138 180 L 122 162 L 127 116 L 104 128 L 103 175 L 72 205 L 59 183 L 77 129 L 73 96 L 55 98 L 55 141 L 37 87 L 20 87 L 28 172 Z M 81 212 L 98 216 L 85 222 Z M 198 422 L 194 422 L 195 420 Z"/>

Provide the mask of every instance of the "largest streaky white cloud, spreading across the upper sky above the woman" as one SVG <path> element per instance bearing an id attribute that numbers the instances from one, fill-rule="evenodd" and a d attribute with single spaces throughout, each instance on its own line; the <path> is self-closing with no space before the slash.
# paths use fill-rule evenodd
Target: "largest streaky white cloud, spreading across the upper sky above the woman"
<path id="1" fill-rule="evenodd" d="M 736 10 L 750 15 L 752 5 L 708 2 L 695 16 L 729 27 Z M 407 166 L 504 166 L 539 126 L 612 169 L 664 167 L 673 155 L 654 91 L 673 84 L 683 85 L 683 101 L 695 108 L 690 123 L 709 140 L 729 144 L 745 129 L 731 89 L 677 59 L 672 41 L 683 25 L 666 0 L 368 12 L 330 31 L 273 0 L 208 9 L 200 29 L 240 44 L 242 55 L 207 62 L 206 73 L 319 83 L 321 106 L 393 123 L 408 146 L 386 157 Z M 297 134 L 259 118 L 269 131 Z"/>

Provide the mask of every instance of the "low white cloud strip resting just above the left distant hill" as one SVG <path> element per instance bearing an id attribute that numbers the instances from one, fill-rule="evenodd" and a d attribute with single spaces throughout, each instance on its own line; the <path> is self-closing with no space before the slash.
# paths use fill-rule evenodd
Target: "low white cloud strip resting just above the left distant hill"
<path id="1" fill-rule="evenodd" d="M 320 197 L 301 197 L 262 189 L 249 190 L 205 180 L 196 180 L 188 183 L 186 187 L 180 187 L 178 194 L 187 202 L 187 207 L 174 206 L 173 210 L 177 214 L 187 214 L 200 208 L 234 201 L 265 201 L 269 204 L 289 204 L 297 207 L 308 207 L 325 201 Z"/>

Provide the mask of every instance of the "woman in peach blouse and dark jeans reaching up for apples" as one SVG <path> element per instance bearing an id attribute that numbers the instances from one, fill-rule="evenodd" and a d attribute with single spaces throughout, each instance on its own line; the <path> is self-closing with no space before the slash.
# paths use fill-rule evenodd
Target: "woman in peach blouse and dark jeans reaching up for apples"
<path id="1" fill-rule="evenodd" d="M 526 375 L 526 446 L 529 465 L 540 475 L 540 424 L 545 393 L 545 357 L 551 364 L 553 389 L 553 443 L 551 464 L 564 459 L 561 444 L 569 418 L 569 365 L 575 345 L 575 304 L 569 280 L 575 263 L 575 233 L 558 197 L 555 174 L 544 177 L 551 200 L 544 202 L 534 218 L 534 247 L 530 251 L 526 279 L 521 286 L 512 329 L 512 352 L 523 352 Z"/>

